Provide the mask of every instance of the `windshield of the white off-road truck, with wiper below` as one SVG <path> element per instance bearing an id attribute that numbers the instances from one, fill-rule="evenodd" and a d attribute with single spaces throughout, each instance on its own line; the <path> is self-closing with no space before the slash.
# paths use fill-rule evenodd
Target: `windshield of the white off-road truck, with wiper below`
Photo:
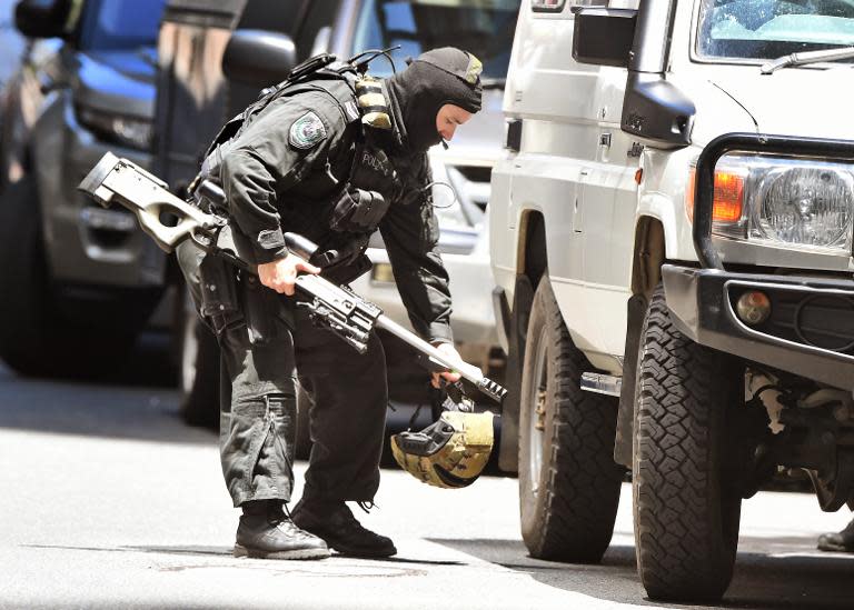
<path id="1" fill-rule="evenodd" d="M 854 0 L 702 0 L 697 52 L 774 59 L 854 46 Z"/>

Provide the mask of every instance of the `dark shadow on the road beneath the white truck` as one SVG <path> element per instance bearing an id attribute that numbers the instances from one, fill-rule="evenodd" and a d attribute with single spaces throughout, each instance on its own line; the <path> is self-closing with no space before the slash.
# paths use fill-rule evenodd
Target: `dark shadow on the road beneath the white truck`
<path id="1" fill-rule="evenodd" d="M 813 553 L 813 538 L 775 538 L 773 554 L 739 552 L 735 578 L 723 602 L 717 606 L 667 604 L 646 599 L 632 546 L 612 544 L 600 564 L 569 564 L 534 559 L 518 540 L 431 541 L 512 570 L 527 572 L 549 587 L 618 603 L 708 610 L 841 610 L 854 607 L 854 556 Z M 767 539 L 743 536 L 739 543 L 747 547 L 754 543 L 767 546 Z M 615 587 L 615 578 L 623 581 L 624 586 Z"/>

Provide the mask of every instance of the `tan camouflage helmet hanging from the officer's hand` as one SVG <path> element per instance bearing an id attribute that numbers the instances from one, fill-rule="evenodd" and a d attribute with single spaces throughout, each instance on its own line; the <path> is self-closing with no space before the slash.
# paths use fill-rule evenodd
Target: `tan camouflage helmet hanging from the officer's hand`
<path id="1" fill-rule="evenodd" d="M 400 468 L 435 487 L 471 484 L 493 451 L 493 413 L 445 411 L 420 432 L 391 437 L 391 453 Z"/>

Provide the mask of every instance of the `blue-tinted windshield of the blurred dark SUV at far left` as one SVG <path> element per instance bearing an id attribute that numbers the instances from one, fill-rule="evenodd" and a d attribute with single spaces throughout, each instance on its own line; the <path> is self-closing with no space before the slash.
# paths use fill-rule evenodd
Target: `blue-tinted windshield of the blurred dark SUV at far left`
<path id="1" fill-rule="evenodd" d="M 166 0 L 95 0 L 86 4 L 80 47 L 86 50 L 153 47 Z"/>

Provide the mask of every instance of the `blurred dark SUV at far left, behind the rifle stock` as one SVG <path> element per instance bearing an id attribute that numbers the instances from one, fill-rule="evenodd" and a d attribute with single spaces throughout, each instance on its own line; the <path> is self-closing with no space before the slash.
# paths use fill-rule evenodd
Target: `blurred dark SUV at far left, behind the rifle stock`
<path id="1" fill-rule="evenodd" d="M 31 39 L 0 139 L 0 357 L 23 373 L 117 360 L 167 284 L 167 259 L 76 187 L 111 150 L 147 167 L 165 0 L 22 0 Z"/>

